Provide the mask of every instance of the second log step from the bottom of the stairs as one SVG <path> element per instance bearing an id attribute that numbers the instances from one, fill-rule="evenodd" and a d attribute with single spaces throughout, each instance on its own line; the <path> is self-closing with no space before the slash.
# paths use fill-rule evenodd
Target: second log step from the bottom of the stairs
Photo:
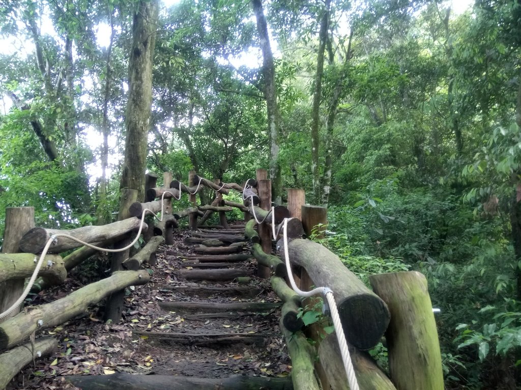
<path id="1" fill-rule="evenodd" d="M 274 336 L 267 333 L 177 333 L 177 332 L 147 332 L 133 331 L 132 334 L 141 338 L 159 339 L 162 343 L 177 343 L 189 345 L 215 345 L 236 343 L 263 343 L 267 337 Z"/>

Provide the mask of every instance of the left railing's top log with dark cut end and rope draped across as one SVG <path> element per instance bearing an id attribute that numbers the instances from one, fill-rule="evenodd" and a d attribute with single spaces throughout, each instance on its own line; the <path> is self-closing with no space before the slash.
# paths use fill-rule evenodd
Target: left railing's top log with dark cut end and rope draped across
<path id="1" fill-rule="evenodd" d="M 87 243 L 106 241 L 116 237 L 124 236 L 129 231 L 138 229 L 146 224 L 137 217 L 127 218 L 102 226 L 84 226 L 72 230 L 56 230 L 35 227 L 23 235 L 20 241 L 20 250 L 27 253 L 41 253 L 49 238 L 55 234 L 66 234 Z M 51 244 L 48 253 L 61 253 L 82 246 L 79 242 L 66 237 L 57 237 L 56 242 Z"/>

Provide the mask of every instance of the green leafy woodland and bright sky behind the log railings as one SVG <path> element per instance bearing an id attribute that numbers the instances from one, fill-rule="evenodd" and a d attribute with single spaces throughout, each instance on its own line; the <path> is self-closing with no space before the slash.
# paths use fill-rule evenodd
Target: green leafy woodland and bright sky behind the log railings
<path id="1" fill-rule="evenodd" d="M 8 206 L 49 228 L 116 217 L 145 14 L 147 169 L 269 167 L 275 199 L 328 206 L 351 270 L 424 272 L 447 388 L 516 388 L 521 1 L 1 0 L 0 229 Z"/>

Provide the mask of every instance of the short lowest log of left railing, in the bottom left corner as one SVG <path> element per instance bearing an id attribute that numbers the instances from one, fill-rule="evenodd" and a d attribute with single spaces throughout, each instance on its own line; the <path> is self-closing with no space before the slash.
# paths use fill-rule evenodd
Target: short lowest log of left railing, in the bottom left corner
<path id="1" fill-rule="evenodd" d="M 53 337 L 41 337 L 34 342 L 34 345 L 26 343 L 0 355 L 0 389 L 4 389 L 29 363 L 51 355 L 57 346 L 58 342 Z"/>

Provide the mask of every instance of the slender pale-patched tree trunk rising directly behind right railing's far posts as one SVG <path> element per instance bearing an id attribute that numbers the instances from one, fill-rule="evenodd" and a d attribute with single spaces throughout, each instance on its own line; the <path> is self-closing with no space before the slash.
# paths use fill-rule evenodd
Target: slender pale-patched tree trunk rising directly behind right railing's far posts
<path id="1" fill-rule="evenodd" d="M 262 73 L 264 76 L 264 97 L 268 111 L 269 135 L 269 176 L 271 180 L 271 198 L 275 203 L 282 203 L 282 176 L 279 161 L 279 111 L 277 107 L 277 88 L 275 84 L 275 64 L 269 43 L 268 25 L 264 17 L 262 0 L 252 0 L 253 12 L 257 20 L 257 32 L 263 53 Z"/>

